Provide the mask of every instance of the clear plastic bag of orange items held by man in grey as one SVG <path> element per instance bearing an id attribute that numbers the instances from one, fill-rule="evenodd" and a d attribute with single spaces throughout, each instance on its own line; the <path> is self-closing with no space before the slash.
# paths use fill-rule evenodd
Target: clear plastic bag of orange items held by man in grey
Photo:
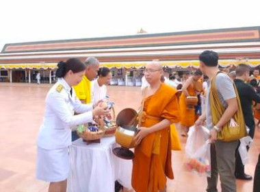
<path id="1" fill-rule="evenodd" d="M 190 128 L 185 146 L 185 167 L 199 175 L 211 176 L 209 130 Z"/>

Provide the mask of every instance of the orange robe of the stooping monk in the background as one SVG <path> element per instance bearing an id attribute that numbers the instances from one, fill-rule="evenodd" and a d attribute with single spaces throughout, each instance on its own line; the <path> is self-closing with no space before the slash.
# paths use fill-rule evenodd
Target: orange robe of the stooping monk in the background
<path id="1" fill-rule="evenodd" d="M 196 91 L 193 83 L 187 87 L 187 92 L 189 93 L 190 96 L 196 96 Z M 181 93 L 181 97 L 179 99 L 180 112 L 181 112 L 181 125 L 190 127 L 194 125 L 195 122 L 195 108 L 192 109 L 187 108 L 185 99 L 186 99 L 185 94 Z"/>

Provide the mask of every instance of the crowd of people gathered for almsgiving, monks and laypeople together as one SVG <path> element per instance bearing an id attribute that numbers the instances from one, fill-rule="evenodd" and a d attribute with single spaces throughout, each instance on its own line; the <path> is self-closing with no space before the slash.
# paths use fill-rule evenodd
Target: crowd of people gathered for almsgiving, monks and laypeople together
<path id="1" fill-rule="evenodd" d="M 218 53 L 214 51 L 203 51 L 198 60 L 200 69 L 192 75 L 183 75 L 183 80 L 177 74 L 164 71 L 158 61 L 147 64 L 144 69 L 139 131 L 134 138 L 138 146 L 134 149 L 132 173 L 132 187 L 137 192 L 166 191 L 167 178 L 174 178 L 171 160 L 174 141 L 170 139 L 173 123 L 180 123 L 182 136 L 187 136 L 193 125 L 196 129 L 205 125 L 209 130 L 211 177 L 207 178 L 208 192 L 218 191 L 218 175 L 223 192 L 237 191 L 236 178 L 252 180 L 252 176 L 244 172 L 237 149 L 239 139 L 247 135 L 246 129 L 253 139 L 254 117 L 260 119 L 260 110 L 256 107 L 260 103 L 259 71 L 256 69 L 250 76 L 250 67 L 246 64 L 239 64 L 231 73 L 220 71 Z M 50 182 L 49 192 L 66 191 L 70 169 L 68 146 L 79 138 L 75 132 L 77 125 L 110 113 L 100 102 L 105 99 L 106 85 L 112 79 L 109 69 L 100 68 L 99 61 L 92 57 L 85 62 L 71 58 L 59 62 L 57 67 L 59 79 L 47 94 L 38 134 L 36 176 Z M 188 103 L 187 98 L 195 99 L 196 104 Z M 231 119 L 237 121 L 242 134 L 227 139 L 226 130 L 229 130 Z M 260 162 L 257 167 L 259 169 Z M 257 169 L 254 192 L 260 191 L 257 183 L 260 170 Z"/>

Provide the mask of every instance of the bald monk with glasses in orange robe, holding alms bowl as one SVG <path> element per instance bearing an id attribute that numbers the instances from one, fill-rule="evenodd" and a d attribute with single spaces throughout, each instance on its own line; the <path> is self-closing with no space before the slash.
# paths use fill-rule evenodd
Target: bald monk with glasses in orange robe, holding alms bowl
<path id="1" fill-rule="evenodd" d="M 161 83 L 159 62 L 147 64 L 144 75 L 139 130 L 134 141 L 132 186 L 136 192 L 166 191 L 166 177 L 173 179 L 170 124 L 180 121 L 177 90 Z"/>

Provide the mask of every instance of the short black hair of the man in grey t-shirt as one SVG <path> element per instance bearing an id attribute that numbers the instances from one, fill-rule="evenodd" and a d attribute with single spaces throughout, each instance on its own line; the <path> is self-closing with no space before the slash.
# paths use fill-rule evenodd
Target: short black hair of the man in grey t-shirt
<path id="1" fill-rule="evenodd" d="M 207 67 L 218 66 L 218 53 L 216 53 L 215 51 L 203 51 L 203 53 L 200 53 L 198 59 L 203 62 Z"/>

